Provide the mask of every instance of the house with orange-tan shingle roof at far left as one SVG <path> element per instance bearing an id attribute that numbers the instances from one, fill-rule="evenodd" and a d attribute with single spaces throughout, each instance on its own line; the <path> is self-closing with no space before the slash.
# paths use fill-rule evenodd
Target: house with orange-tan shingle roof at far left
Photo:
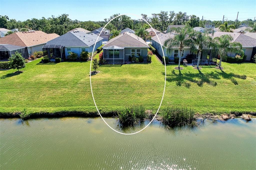
<path id="1" fill-rule="evenodd" d="M 0 38 L 0 44 L 26 47 L 28 56 L 30 57 L 35 51 L 42 51 L 44 44 L 56 37 L 59 37 L 59 35 L 55 33 L 47 34 L 42 31 L 14 32 Z"/>

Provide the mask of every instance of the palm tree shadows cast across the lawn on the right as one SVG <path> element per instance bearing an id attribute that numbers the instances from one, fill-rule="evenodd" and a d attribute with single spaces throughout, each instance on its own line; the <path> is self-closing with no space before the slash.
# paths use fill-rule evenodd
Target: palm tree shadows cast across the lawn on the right
<path id="1" fill-rule="evenodd" d="M 162 72 L 163 75 L 165 75 L 164 72 Z M 192 73 L 192 72 L 185 72 L 182 73 L 182 70 L 179 70 L 179 72 L 175 72 L 175 70 L 172 70 L 171 73 L 166 74 L 166 80 L 169 82 L 176 82 L 177 86 L 185 86 L 186 88 L 189 88 L 191 86 L 191 83 L 196 83 L 199 87 L 202 87 L 205 83 L 209 84 L 210 86 L 217 86 L 217 82 L 214 80 L 224 78 L 230 80 L 234 85 L 238 85 L 238 82 L 235 78 L 239 79 L 246 79 L 246 75 L 238 75 L 233 73 L 226 73 L 223 70 L 221 72 L 219 71 L 211 71 L 209 73 L 202 73 L 201 70 L 198 70 L 198 73 Z"/>

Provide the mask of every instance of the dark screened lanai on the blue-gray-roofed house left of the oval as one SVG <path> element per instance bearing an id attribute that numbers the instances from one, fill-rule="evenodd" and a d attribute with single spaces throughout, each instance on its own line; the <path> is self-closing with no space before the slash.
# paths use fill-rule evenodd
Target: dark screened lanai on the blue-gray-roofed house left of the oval
<path id="1" fill-rule="evenodd" d="M 65 51 L 62 45 L 44 45 L 43 54 L 44 56 L 48 56 L 50 60 L 65 57 Z"/>

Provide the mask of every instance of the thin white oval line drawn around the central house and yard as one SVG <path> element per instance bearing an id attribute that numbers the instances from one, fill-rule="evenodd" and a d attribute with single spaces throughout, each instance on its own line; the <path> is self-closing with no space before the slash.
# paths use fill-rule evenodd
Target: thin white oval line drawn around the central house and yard
<path id="1" fill-rule="evenodd" d="M 114 17 L 113 19 L 115 19 L 115 18 L 117 18 L 117 17 L 120 17 L 120 16 L 122 16 L 122 15 L 127 15 L 127 14 L 129 14 L 129 15 L 134 15 L 134 16 L 136 16 L 136 17 L 138 17 L 138 18 L 143 19 L 141 16 L 138 16 L 138 15 L 132 14 L 132 13 L 120 14 L 120 15 Z M 128 15 L 127 15 L 127 16 L 128 16 Z M 111 19 L 108 23 L 106 23 L 106 25 L 103 27 L 103 29 L 105 29 L 105 27 L 106 27 L 113 19 Z M 150 23 L 148 23 L 145 19 L 143 19 L 143 20 L 153 29 L 153 27 L 150 25 Z M 102 29 L 102 30 L 103 30 L 103 29 Z M 96 43 L 97 43 L 97 41 L 98 41 L 98 39 L 99 39 L 99 37 L 100 37 L 100 34 L 101 34 L 102 30 L 100 31 L 100 33 L 99 33 L 99 35 L 98 35 L 98 37 L 97 37 L 97 39 L 96 39 L 96 42 L 95 42 L 94 47 L 93 47 L 93 50 L 92 50 L 93 52 L 94 52 L 95 45 L 96 45 Z M 153 29 L 153 31 L 154 31 L 155 34 L 156 34 L 156 31 L 155 31 L 154 29 Z M 163 54 L 164 54 L 164 50 L 163 50 L 162 44 L 161 44 L 161 42 L 160 42 L 160 40 L 159 40 L 157 34 L 156 34 L 156 37 L 157 37 L 157 39 L 158 39 L 158 41 L 159 41 L 159 43 L 160 43 L 160 45 L 161 45 L 162 52 L 163 52 Z M 93 53 L 92 53 L 92 55 L 93 55 Z M 118 133 L 120 133 L 120 134 L 122 134 L 122 135 L 134 135 L 134 134 L 136 134 L 136 133 L 138 133 L 138 132 L 141 132 L 142 130 L 146 129 L 146 128 L 148 127 L 148 125 L 150 125 L 151 122 L 153 122 L 153 120 L 155 119 L 155 117 L 156 117 L 156 115 L 157 115 L 157 113 L 158 113 L 158 111 L 159 111 L 159 109 L 160 109 L 160 107 L 161 107 L 161 105 L 162 105 L 163 99 L 164 99 L 165 85 L 166 85 L 166 63 L 165 63 L 165 60 L 164 60 L 164 67 L 165 67 L 164 92 L 163 92 L 163 96 L 162 96 L 161 103 L 160 103 L 160 105 L 159 105 L 159 107 L 158 107 L 158 110 L 157 110 L 155 116 L 154 116 L 153 119 L 150 121 L 150 123 L 148 123 L 147 126 L 145 126 L 143 129 L 141 129 L 141 130 L 139 130 L 139 131 L 137 131 L 137 132 L 134 132 L 134 133 L 122 133 L 122 132 L 119 132 L 119 131 L 113 129 L 111 126 L 109 126 L 108 123 L 105 122 L 104 118 L 101 116 L 100 111 L 99 111 L 99 109 L 98 109 L 98 107 L 97 107 L 97 105 L 96 105 L 96 103 L 95 103 L 94 96 L 93 96 L 93 92 L 92 92 L 92 81 L 91 81 L 91 68 L 92 68 L 92 56 L 91 56 L 91 63 L 90 63 L 90 86 L 91 86 L 92 98 L 93 98 L 93 102 L 94 102 L 94 104 L 95 104 L 95 107 L 96 107 L 98 113 L 100 114 L 100 117 L 101 117 L 102 120 L 105 122 L 105 124 L 108 125 L 108 127 L 110 127 L 112 130 L 114 130 L 115 132 L 118 132 Z"/>

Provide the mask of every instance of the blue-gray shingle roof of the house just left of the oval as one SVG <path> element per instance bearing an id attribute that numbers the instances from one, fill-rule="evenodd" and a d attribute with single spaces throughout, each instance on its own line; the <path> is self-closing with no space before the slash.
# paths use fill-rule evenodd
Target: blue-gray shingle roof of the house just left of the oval
<path id="1" fill-rule="evenodd" d="M 96 34 L 87 34 L 85 32 L 80 31 L 72 31 L 67 32 L 66 34 L 61 35 L 51 41 L 48 41 L 45 45 L 62 45 L 66 46 L 91 46 L 95 44 L 97 40 Z M 103 38 L 99 37 L 98 41 L 102 40 Z M 97 42 L 98 42 L 97 41 Z"/>

